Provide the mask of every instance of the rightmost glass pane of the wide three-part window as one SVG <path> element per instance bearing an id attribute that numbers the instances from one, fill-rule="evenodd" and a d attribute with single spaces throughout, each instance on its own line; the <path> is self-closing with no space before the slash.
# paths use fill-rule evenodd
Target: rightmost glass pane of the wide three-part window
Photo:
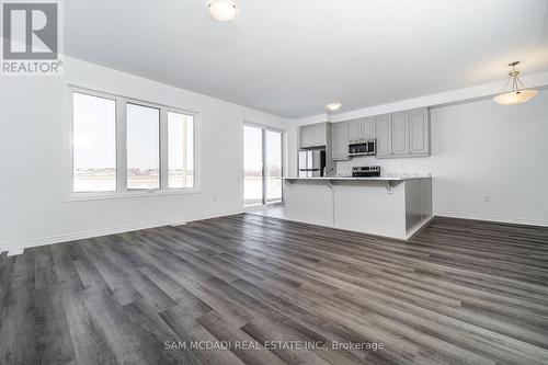
<path id="1" fill-rule="evenodd" d="M 194 187 L 194 117 L 168 112 L 168 187 Z"/>

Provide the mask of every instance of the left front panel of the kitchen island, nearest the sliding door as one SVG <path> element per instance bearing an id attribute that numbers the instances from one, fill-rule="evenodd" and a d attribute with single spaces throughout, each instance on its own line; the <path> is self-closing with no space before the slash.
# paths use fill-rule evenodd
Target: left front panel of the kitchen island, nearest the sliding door
<path id="1" fill-rule="evenodd" d="M 285 181 L 285 217 L 312 225 L 333 225 L 333 195 L 327 181 Z"/>

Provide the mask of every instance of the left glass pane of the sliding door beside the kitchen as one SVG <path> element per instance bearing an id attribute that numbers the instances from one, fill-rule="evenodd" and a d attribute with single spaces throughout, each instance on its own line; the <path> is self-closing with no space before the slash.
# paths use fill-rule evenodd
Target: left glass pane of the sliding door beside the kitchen
<path id="1" fill-rule="evenodd" d="M 263 130 L 243 126 L 244 205 L 263 204 Z"/>

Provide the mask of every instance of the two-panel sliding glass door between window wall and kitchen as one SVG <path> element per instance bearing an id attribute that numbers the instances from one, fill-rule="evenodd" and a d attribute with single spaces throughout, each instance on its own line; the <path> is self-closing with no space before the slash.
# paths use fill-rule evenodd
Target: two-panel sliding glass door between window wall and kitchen
<path id="1" fill-rule="evenodd" d="M 282 203 L 283 133 L 243 126 L 243 198 L 246 206 Z"/>

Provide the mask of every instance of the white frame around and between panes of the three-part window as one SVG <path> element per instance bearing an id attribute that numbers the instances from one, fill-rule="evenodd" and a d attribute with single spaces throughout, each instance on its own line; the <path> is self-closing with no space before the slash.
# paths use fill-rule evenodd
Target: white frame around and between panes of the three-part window
<path id="1" fill-rule="evenodd" d="M 116 107 L 116 191 L 114 192 L 75 192 L 73 191 L 73 93 L 103 98 L 113 100 Z M 159 119 L 159 139 L 160 139 L 160 189 L 153 190 L 128 190 L 127 189 L 127 104 L 141 105 L 146 107 L 158 109 Z M 103 91 L 96 91 L 88 88 L 68 84 L 66 93 L 67 111 L 65 117 L 65 202 L 96 201 L 111 198 L 147 197 L 162 195 L 183 195 L 201 192 L 199 185 L 199 113 L 181 107 L 163 105 L 142 101 L 135 98 L 122 96 Z M 194 186 L 193 187 L 169 187 L 168 186 L 168 112 L 179 113 L 193 117 L 193 161 L 194 161 Z"/>

